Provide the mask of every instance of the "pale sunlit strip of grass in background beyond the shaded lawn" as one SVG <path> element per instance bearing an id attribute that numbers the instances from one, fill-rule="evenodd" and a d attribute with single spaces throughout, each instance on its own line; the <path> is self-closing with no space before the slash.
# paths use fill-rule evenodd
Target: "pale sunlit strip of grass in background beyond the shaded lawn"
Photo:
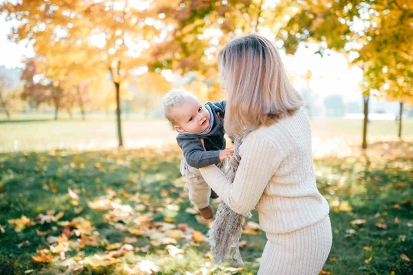
<path id="1" fill-rule="evenodd" d="M 360 143 L 361 120 L 312 119 L 315 139 L 336 139 L 345 137 L 348 141 Z M 368 139 L 396 139 L 398 125 L 395 121 L 371 121 L 368 125 Z M 54 121 L 50 116 L 17 116 L 12 121 L 0 121 L 0 152 L 21 150 L 50 150 L 52 148 L 101 150 L 117 145 L 115 119 L 92 117 L 87 121 L 62 119 Z M 175 143 L 176 132 L 166 121 L 142 121 L 125 119 L 123 137 L 127 148 L 145 145 Z M 413 139 L 413 119 L 403 121 L 403 138 Z"/>

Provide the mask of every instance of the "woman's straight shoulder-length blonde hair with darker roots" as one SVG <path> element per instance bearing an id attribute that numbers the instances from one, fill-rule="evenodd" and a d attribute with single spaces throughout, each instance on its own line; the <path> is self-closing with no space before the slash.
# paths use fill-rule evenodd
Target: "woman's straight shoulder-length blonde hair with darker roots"
<path id="1" fill-rule="evenodd" d="M 274 45 L 258 34 L 225 45 L 218 65 L 227 92 L 224 128 L 229 136 L 272 125 L 304 105 Z"/>

